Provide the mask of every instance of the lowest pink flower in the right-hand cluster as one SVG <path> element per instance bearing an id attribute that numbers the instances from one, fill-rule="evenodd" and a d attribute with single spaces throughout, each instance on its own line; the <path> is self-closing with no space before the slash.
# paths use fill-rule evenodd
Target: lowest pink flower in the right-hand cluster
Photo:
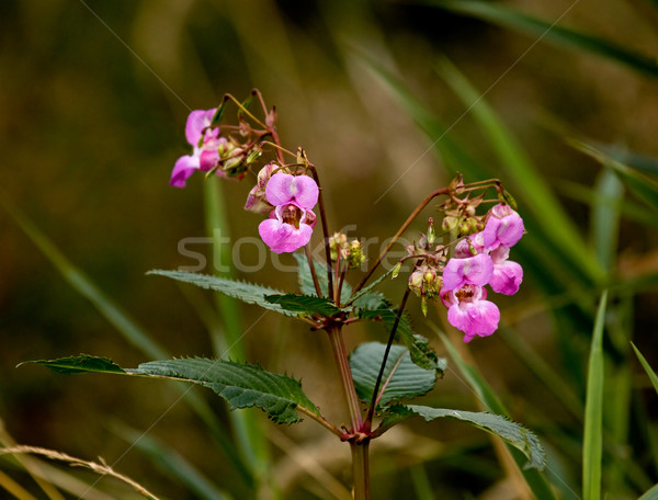
<path id="1" fill-rule="evenodd" d="M 464 332 L 464 342 L 470 342 L 476 336 L 488 337 L 498 329 L 500 310 L 486 298 L 487 291 L 472 284 L 441 291 L 441 299 L 447 307 L 447 320 Z"/>

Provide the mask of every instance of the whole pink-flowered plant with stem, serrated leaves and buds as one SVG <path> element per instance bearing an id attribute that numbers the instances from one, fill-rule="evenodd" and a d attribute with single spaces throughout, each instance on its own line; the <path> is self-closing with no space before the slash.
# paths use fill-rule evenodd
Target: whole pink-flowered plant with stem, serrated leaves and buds
<path id="1" fill-rule="evenodd" d="M 249 110 L 254 99 L 262 117 Z M 226 124 L 225 111 L 231 103 L 238 109 L 237 123 Z M 527 459 L 526 467 L 543 468 L 543 450 L 536 436 L 507 418 L 409 404 L 429 393 L 445 370 L 445 361 L 431 350 L 427 338 L 413 330 L 405 314 L 411 293 L 420 298 L 426 316 L 431 302 L 440 308 L 445 306 L 447 321 L 464 333 L 464 342 L 469 342 L 490 336 L 498 328 L 500 311 L 487 287 L 512 295 L 522 282 L 521 265 L 509 260 L 509 254 L 524 234 L 523 220 L 500 181 L 464 183 L 457 175 L 418 205 L 371 263 L 359 240 L 349 241 L 344 234 L 331 232 L 318 169 L 303 148 L 292 151 L 282 145 L 276 111 L 268 109 L 258 90 L 246 102 L 225 95 L 216 109 L 193 111 L 185 137 L 192 154 L 175 162 L 171 185 L 184 188 L 197 171 L 206 177 L 253 183 L 245 208 L 264 217 L 258 224 L 258 234 L 272 252 L 295 252 L 300 293 L 190 272 L 150 274 L 211 288 L 304 321 L 314 331 L 324 331 L 337 366 L 337 385 L 344 395 L 345 423 L 330 422 L 303 391 L 300 382 L 266 372 L 257 364 L 193 357 L 122 368 L 109 359 L 89 355 L 36 363 L 66 374 L 102 372 L 186 380 L 211 388 L 231 409 L 256 407 L 276 423 L 313 419 L 350 445 L 355 499 L 371 496 L 371 441 L 411 417 L 426 421 L 450 418 L 474 425 L 520 450 Z M 401 235 L 435 198 L 442 200 L 441 221 L 430 218 L 427 232 L 406 247 L 407 255 L 371 281 Z M 309 242 L 318 232 L 324 241 L 325 262 L 314 259 L 309 250 Z M 399 305 L 395 306 L 377 287 L 387 277 L 398 277 L 406 262 L 412 264 L 412 271 Z M 347 327 L 356 321 L 382 323 L 388 338 L 385 342 L 361 344 L 348 354 L 344 334 Z"/>

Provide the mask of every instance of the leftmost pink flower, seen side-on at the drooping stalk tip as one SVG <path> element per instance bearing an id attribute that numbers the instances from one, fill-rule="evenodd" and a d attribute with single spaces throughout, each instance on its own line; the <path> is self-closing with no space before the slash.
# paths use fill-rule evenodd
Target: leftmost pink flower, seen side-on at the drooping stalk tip
<path id="1" fill-rule="evenodd" d="M 219 128 L 209 128 L 215 111 L 216 109 L 195 110 L 188 116 L 185 138 L 192 146 L 192 155 L 182 156 L 177 160 L 169 181 L 172 186 L 184 188 L 188 178 L 195 170 L 204 170 L 202 169 L 204 154 L 216 151 L 219 144 L 226 140 L 219 137 Z"/>

